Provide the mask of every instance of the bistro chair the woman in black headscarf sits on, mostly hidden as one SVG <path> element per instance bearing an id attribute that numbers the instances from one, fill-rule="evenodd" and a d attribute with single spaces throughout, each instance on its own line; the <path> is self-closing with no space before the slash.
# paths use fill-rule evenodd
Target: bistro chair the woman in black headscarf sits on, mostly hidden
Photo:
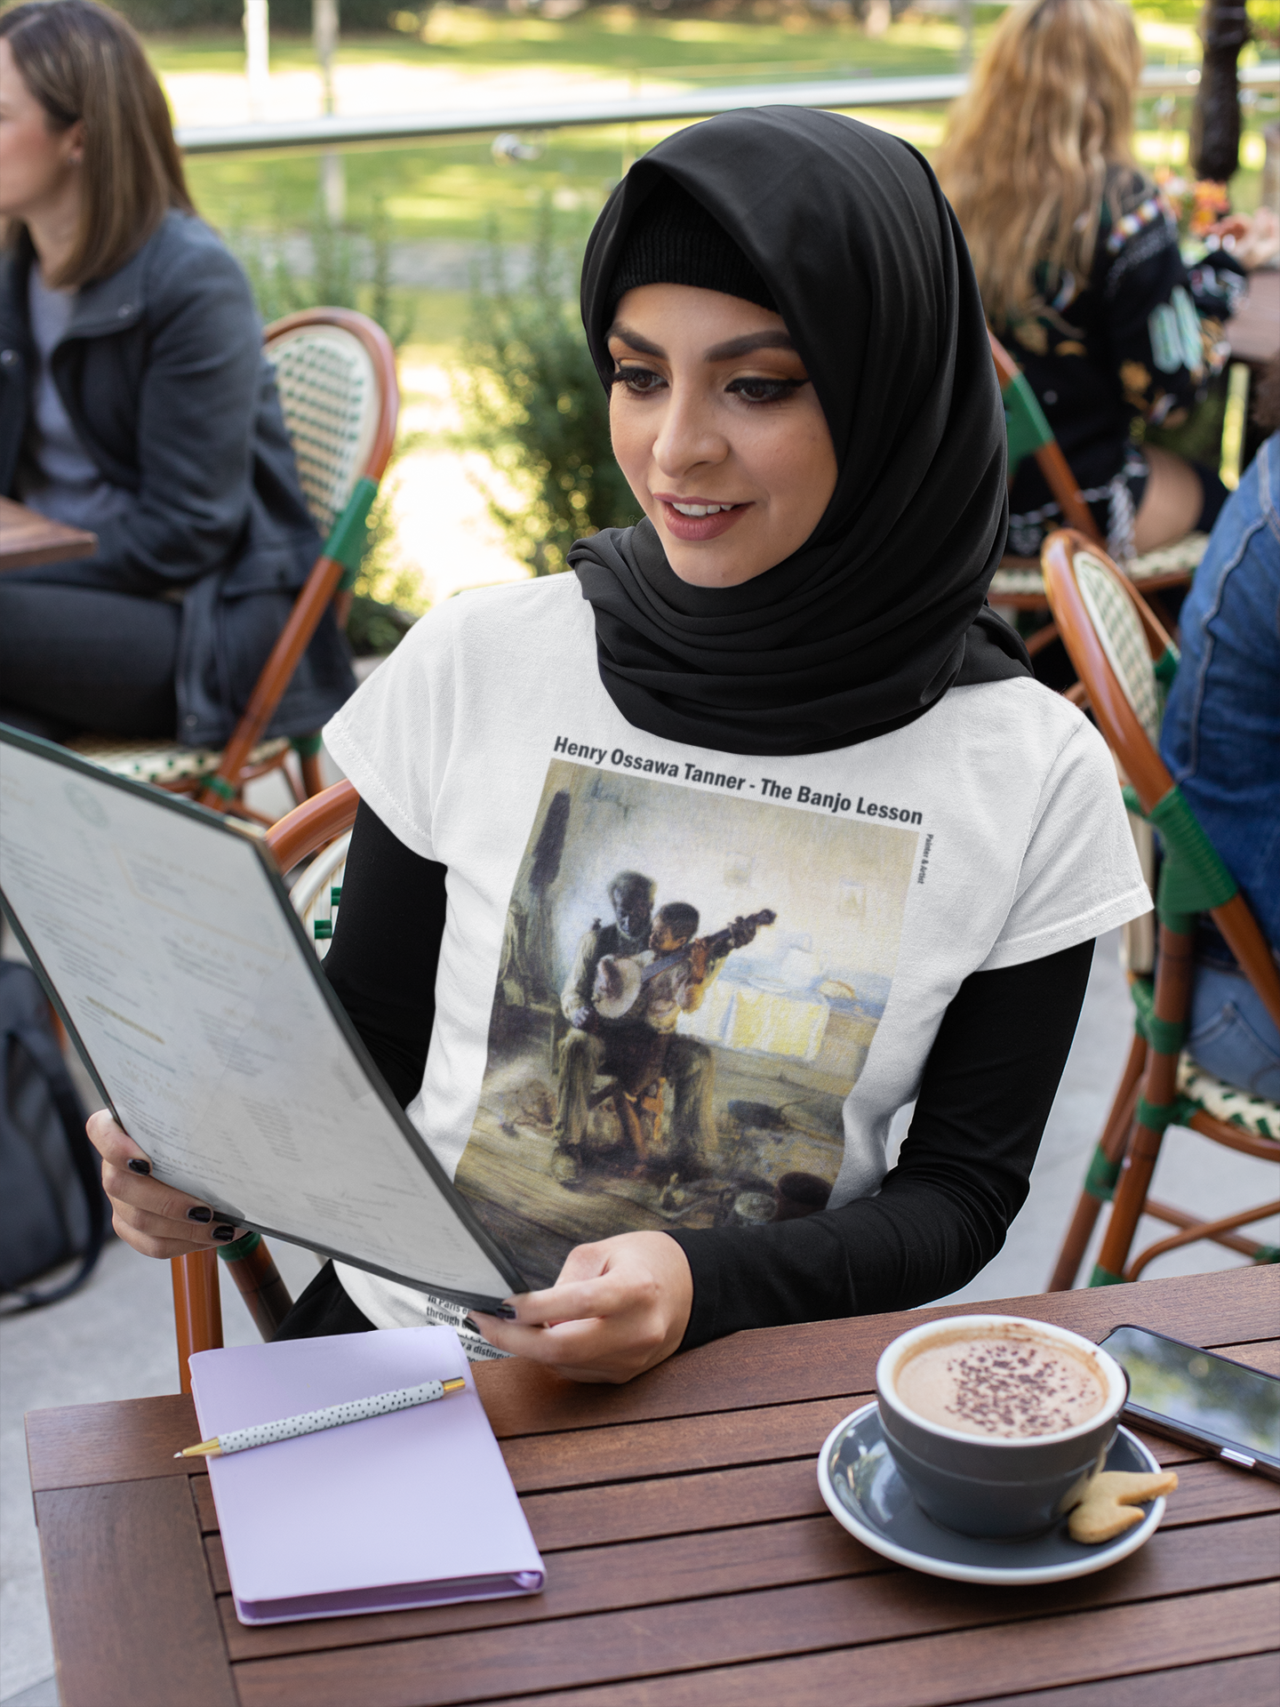
<path id="1" fill-rule="evenodd" d="M 285 876 L 309 855 L 317 855 L 294 883 L 290 900 L 321 954 L 328 951 L 328 939 L 333 935 L 333 917 L 338 910 L 357 804 L 355 787 L 340 782 L 304 801 L 266 836 L 266 845 Z M 288 1289 L 259 1232 L 246 1232 L 242 1239 L 217 1251 L 174 1256 L 171 1263 L 174 1325 L 183 1393 L 191 1391 L 188 1357 L 222 1345 L 218 1261 L 225 1263 L 265 1340 L 271 1338 L 292 1306 Z"/>

